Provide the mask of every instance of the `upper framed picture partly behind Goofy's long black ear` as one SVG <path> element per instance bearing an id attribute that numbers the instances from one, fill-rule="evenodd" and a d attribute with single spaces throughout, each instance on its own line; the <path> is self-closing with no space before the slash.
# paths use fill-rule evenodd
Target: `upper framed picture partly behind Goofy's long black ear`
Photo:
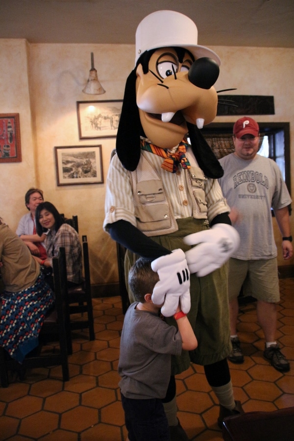
<path id="1" fill-rule="evenodd" d="M 122 99 L 77 101 L 79 139 L 115 137 L 118 132 L 122 105 Z"/>

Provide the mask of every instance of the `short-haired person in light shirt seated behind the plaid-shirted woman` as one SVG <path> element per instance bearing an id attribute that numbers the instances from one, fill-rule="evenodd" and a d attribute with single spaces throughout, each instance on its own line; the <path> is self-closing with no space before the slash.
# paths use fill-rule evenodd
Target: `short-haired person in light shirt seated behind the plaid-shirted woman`
<path id="1" fill-rule="evenodd" d="M 31 254 L 40 257 L 42 260 L 47 258 L 44 240 L 46 235 L 40 237 L 36 233 L 35 213 L 40 202 L 43 202 L 43 192 L 38 188 L 30 188 L 25 193 L 25 206 L 29 213 L 25 214 L 19 221 L 16 234 L 25 242 Z"/>

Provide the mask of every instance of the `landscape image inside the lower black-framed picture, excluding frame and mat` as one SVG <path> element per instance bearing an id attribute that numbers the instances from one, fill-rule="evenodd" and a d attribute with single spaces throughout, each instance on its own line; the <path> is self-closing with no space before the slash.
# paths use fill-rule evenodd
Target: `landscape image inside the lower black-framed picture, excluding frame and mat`
<path id="1" fill-rule="evenodd" d="M 61 153 L 64 179 L 97 177 L 95 151 Z"/>

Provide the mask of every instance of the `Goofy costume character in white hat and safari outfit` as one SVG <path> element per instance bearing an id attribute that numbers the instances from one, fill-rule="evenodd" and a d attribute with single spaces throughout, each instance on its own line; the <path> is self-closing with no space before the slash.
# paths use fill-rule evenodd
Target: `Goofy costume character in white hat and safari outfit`
<path id="1" fill-rule="evenodd" d="M 243 413 L 234 400 L 225 262 L 239 246 L 217 179 L 223 171 L 200 133 L 213 121 L 213 85 L 220 59 L 197 45 L 197 28 L 174 11 L 148 15 L 136 31 L 135 68 L 126 81 L 116 152 L 108 176 L 103 227 L 127 248 L 125 274 L 138 256 L 159 274 L 152 300 L 165 320 L 181 310 L 198 347 L 172 360 L 164 400 L 171 439 L 188 440 L 176 417 L 174 375 L 204 366 L 226 416 Z M 196 245 L 196 246 L 195 246 Z M 190 271 L 190 272 L 189 272 Z M 185 277 L 185 274 L 189 274 Z M 129 292 L 130 300 L 134 301 Z"/>

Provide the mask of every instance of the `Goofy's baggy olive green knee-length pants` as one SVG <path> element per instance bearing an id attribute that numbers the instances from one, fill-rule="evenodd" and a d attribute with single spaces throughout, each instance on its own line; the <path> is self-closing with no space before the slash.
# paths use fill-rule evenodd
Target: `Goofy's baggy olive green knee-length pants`
<path id="1" fill-rule="evenodd" d="M 177 223 L 179 229 L 175 233 L 151 239 L 170 250 L 181 248 L 187 251 L 190 245 L 183 243 L 183 237 L 209 228 L 205 220 L 194 218 L 179 219 Z M 126 286 L 131 302 L 135 300 L 128 287 L 127 274 L 138 257 L 129 250 L 125 255 Z M 204 277 L 191 274 L 190 281 L 191 310 L 188 319 L 195 331 L 198 346 L 194 351 L 183 350 L 180 356 L 172 357 L 172 375 L 188 369 L 191 362 L 205 366 L 221 361 L 227 357 L 231 347 L 226 265 Z M 165 320 L 176 326 L 173 317 Z"/>

